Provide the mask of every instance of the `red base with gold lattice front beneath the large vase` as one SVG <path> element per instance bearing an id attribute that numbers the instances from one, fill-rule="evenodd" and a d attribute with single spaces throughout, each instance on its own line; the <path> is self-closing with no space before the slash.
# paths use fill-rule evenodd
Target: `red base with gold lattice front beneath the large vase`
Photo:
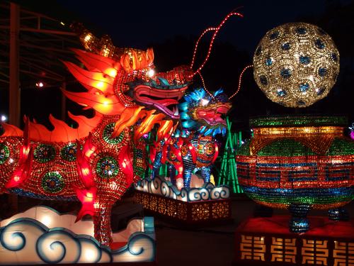
<path id="1" fill-rule="evenodd" d="M 309 217 L 307 233 L 289 231 L 289 216 L 249 218 L 236 229 L 237 265 L 354 265 L 353 222 Z"/>

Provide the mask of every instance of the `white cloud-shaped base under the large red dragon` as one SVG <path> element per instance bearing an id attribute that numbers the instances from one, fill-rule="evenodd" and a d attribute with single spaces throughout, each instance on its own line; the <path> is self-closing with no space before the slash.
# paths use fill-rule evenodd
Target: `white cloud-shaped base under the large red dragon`
<path id="1" fill-rule="evenodd" d="M 93 238 L 93 221 L 35 206 L 0 222 L 0 265 L 154 265 L 154 218 L 131 220 L 108 248 Z"/>

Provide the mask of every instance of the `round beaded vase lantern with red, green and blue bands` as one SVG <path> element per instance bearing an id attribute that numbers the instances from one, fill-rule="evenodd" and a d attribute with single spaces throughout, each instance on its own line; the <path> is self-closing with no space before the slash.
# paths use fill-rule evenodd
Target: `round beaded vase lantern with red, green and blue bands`
<path id="1" fill-rule="evenodd" d="M 307 212 L 342 206 L 354 196 L 354 141 L 343 135 L 346 118 L 274 116 L 250 120 L 253 137 L 236 156 L 237 176 L 253 201 L 292 213 L 290 231 L 309 230 Z"/>

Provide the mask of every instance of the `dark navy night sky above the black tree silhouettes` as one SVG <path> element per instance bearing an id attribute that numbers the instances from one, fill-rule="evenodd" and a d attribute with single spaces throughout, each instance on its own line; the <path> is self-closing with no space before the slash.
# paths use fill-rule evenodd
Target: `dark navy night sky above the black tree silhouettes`
<path id="1" fill-rule="evenodd" d="M 86 1 L 57 0 L 77 19 L 108 34 L 115 45 L 146 48 L 176 35 L 199 35 L 217 25 L 233 9 L 244 18 L 232 18 L 220 33 L 240 50 L 253 52 L 261 36 L 282 23 L 319 16 L 324 0 L 315 1 Z M 99 2 L 97 2 L 99 3 Z M 346 3 L 346 1 L 343 1 Z"/>

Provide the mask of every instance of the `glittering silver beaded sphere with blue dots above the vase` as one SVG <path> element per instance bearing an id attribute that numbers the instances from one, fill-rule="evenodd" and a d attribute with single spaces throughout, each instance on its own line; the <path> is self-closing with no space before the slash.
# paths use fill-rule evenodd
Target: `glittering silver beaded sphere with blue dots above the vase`
<path id="1" fill-rule="evenodd" d="M 321 28 L 287 23 L 268 31 L 253 55 L 253 75 L 265 96 L 286 107 L 306 107 L 336 83 L 339 53 Z"/>

